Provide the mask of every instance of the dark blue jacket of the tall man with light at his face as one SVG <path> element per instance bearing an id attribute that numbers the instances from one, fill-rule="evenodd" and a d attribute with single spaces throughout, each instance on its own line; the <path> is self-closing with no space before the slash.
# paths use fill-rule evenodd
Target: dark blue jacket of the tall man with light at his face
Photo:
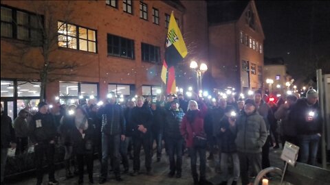
<path id="1" fill-rule="evenodd" d="M 102 132 L 109 135 L 124 135 L 126 123 L 122 106 L 118 104 L 107 104 L 99 110 L 102 121 Z"/>

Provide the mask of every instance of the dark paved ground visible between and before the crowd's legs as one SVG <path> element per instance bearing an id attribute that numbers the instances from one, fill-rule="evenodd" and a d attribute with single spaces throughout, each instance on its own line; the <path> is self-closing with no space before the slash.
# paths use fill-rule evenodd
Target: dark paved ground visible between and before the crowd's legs
<path id="1" fill-rule="evenodd" d="M 283 161 L 280 159 L 281 149 L 271 149 L 270 150 L 270 160 L 272 167 L 280 167 L 283 168 Z M 144 164 L 144 156 L 142 156 L 141 164 Z M 130 168 L 132 167 L 132 161 L 130 160 Z M 221 182 L 221 174 L 215 172 L 215 167 L 217 165 L 217 160 L 208 160 L 206 173 L 208 175 L 208 179 L 213 184 L 219 184 Z M 168 158 L 166 155 L 162 157 L 161 162 L 156 162 L 155 156 L 153 158 L 153 176 L 144 175 L 144 165 L 142 165 L 142 174 L 137 177 L 131 177 L 130 175 L 122 175 L 124 179 L 123 182 L 116 182 L 113 178 L 113 174 L 109 175 L 108 181 L 105 184 L 122 184 L 122 185 L 151 185 L 151 184 L 162 184 L 162 185 L 172 185 L 172 184 L 182 184 L 188 185 L 192 184 L 192 177 L 190 175 L 190 158 L 187 155 L 184 156 L 183 159 L 183 172 L 182 177 L 180 179 L 177 178 L 169 178 L 167 177 L 168 173 Z M 131 170 L 131 169 L 130 169 Z M 100 163 L 98 160 L 94 161 L 94 182 L 98 184 L 98 175 L 100 172 Z M 47 176 L 44 175 L 44 184 L 47 184 Z M 61 169 L 56 171 L 56 178 L 59 181 L 59 184 L 77 184 L 78 177 L 73 177 L 72 179 L 67 180 L 65 178 L 65 171 Z M 274 176 L 274 179 L 270 181 L 270 184 L 279 184 L 281 177 Z M 88 184 L 88 177 L 85 175 L 85 184 Z M 25 177 L 24 179 L 15 180 L 15 182 L 8 182 L 8 184 L 13 185 L 32 185 L 36 184 L 36 179 L 34 176 Z M 239 184 L 241 181 L 239 180 Z"/>

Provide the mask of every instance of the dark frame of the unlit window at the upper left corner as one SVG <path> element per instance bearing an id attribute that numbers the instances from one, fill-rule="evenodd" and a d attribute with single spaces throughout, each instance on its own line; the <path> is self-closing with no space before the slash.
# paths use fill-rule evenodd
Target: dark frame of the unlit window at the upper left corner
<path id="1" fill-rule="evenodd" d="M 33 41 L 36 41 L 36 40 L 32 40 L 32 31 L 36 31 L 41 34 L 41 36 L 43 37 L 43 27 L 44 27 L 44 16 L 42 14 L 36 14 L 36 13 L 33 13 L 33 12 L 29 12 L 27 10 L 21 10 L 21 9 L 18 9 L 18 8 L 13 8 L 13 7 L 10 7 L 8 5 L 2 5 L 1 4 L 1 8 L 7 8 L 7 9 L 10 9 L 11 10 L 11 19 L 12 21 L 11 22 L 8 22 L 8 21 L 1 21 L 1 23 L 5 23 L 7 25 L 11 25 L 12 27 L 12 30 L 11 30 L 11 34 L 12 36 L 1 36 L 1 38 L 12 38 L 12 39 L 17 39 L 17 40 L 21 40 L 21 41 L 24 41 L 24 42 L 33 42 Z M 24 14 L 27 14 L 28 15 L 28 25 L 19 25 L 17 22 L 17 12 L 23 12 Z M 37 20 L 38 20 L 38 16 L 41 18 L 41 27 L 39 27 L 40 25 L 37 25 L 37 27 L 33 27 L 32 26 L 32 21 L 31 21 L 31 17 L 32 16 L 36 16 Z M 39 23 L 39 21 L 38 21 Z M 19 34 L 18 34 L 18 28 L 19 27 L 24 27 L 24 28 L 27 28 L 28 29 L 28 40 L 26 39 L 20 39 L 18 38 Z M 42 40 L 42 38 L 41 38 Z M 37 40 L 38 41 L 38 40 Z"/>

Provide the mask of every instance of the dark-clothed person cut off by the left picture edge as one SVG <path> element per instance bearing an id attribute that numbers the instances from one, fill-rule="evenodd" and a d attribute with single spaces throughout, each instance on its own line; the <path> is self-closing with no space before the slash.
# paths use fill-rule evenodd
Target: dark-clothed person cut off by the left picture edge
<path id="1" fill-rule="evenodd" d="M 8 148 L 16 147 L 15 131 L 12 127 L 12 119 L 3 112 L 1 103 L 1 184 L 3 184 L 3 175 L 5 174 L 5 161 L 7 160 Z"/>

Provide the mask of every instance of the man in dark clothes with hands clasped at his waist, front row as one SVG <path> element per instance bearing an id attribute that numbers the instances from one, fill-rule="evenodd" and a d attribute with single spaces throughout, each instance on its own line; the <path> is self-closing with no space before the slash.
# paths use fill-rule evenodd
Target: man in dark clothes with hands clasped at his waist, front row
<path id="1" fill-rule="evenodd" d="M 145 165 L 147 175 L 151 172 L 151 127 L 153 112 L 151 112 L 148 102 L 144 102 L 144 97 L 137 97 L 136 107 L 131 112 L 132 140 L 134 148 L 133 173 L 136 176 L 140 171 L 140 151 L 143 145 L 144 155 L 146 156 Z"/>

